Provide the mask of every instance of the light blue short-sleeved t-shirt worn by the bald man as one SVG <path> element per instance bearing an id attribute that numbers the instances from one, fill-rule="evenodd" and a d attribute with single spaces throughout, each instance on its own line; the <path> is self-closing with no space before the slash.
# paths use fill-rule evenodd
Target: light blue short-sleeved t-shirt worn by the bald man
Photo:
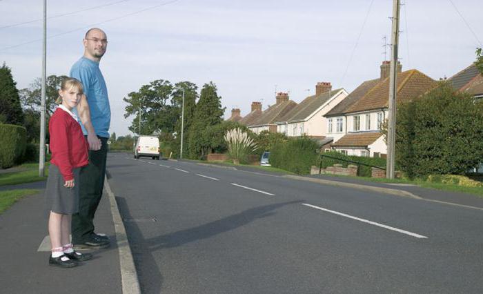
<path id="1" fill-rule="evenodd" d="M 70 77 L 75 77 L 82 83 L 89 104 L 90 121 L 96 135 L 108 138 L 110 126 L 108 88 L 99 69 L 99 63 L 81 57 L 70 69 Z M 74 110 L 77 115 L 77 109 Z M 81 127 L 84 135 L 87 135 L 86 128 L 82 124 Z"/>

